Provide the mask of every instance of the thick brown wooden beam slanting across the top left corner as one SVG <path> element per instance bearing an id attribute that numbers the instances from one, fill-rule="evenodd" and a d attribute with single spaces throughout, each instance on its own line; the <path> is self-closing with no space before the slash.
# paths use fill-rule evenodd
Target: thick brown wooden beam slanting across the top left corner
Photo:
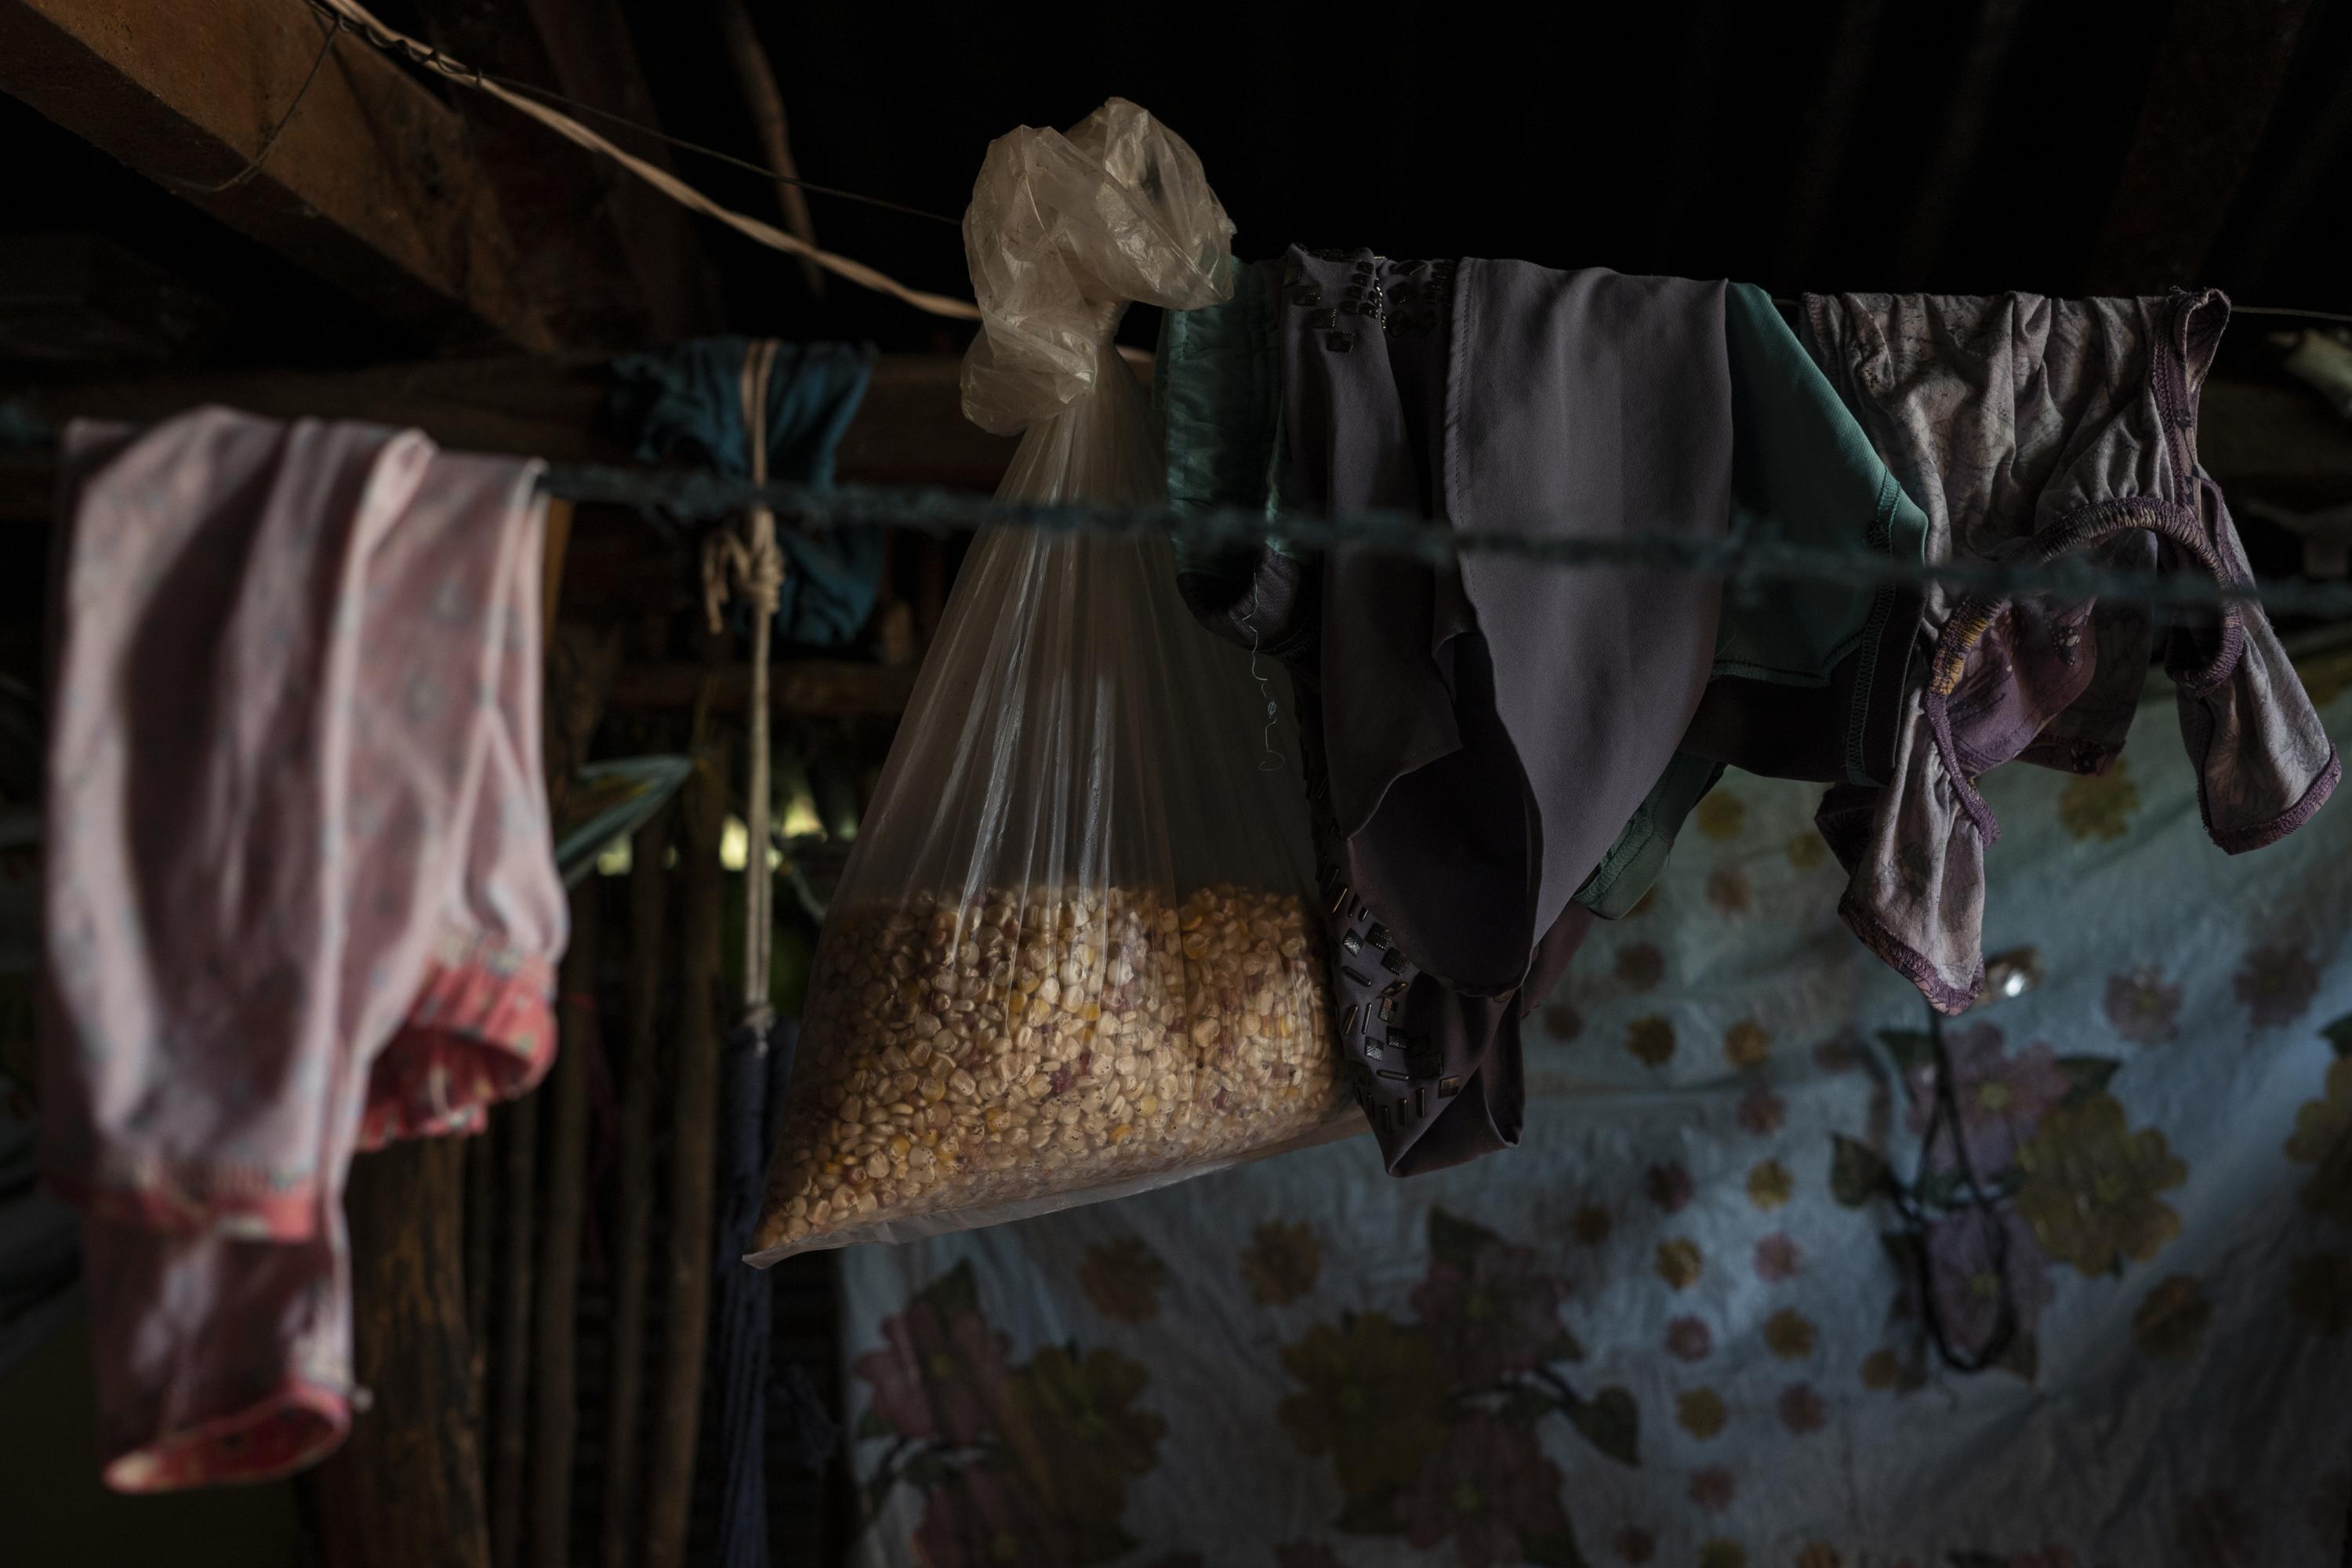
<path id="1" fill-rule="evenodd" d="M 0 89 L 395 322 L 553 348 L 447 103 L 343 35 L 287 118 L 325 40 L 296 0 L 0 0 Z"/>

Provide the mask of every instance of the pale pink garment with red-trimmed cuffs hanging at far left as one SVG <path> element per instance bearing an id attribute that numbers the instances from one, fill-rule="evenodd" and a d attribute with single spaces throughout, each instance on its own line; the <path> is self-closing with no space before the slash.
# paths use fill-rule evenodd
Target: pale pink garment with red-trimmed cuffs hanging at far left
<path id="1" fill-rule="evenodd" d="M 106 1481 L 350 1425 L 343 1173 L 555 1053 L 536 465 L 200 409 L 66 435 L 45 1168 Z"/>

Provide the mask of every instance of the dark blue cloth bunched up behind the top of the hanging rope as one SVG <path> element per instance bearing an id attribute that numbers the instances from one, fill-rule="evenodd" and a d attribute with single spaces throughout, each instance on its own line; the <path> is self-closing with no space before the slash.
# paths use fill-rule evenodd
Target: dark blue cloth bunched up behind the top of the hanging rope
<path id="1" fill-rule="evenodd" d="M 689 339 L 612 362 L 612 418 L 649 463 L 694 463 L 750 477 L 743 440 L 743 355 L 750 339 Z M 833 449 L 873 378 L 870 343 L 781 343 L 767 378 L 767 475 L 788 484 L 833 484 Z M 882 529 L 828 536 L 779 529 L 790 559 L 776 630 L 786 642 L 849 642 L 875 607 Z"/>

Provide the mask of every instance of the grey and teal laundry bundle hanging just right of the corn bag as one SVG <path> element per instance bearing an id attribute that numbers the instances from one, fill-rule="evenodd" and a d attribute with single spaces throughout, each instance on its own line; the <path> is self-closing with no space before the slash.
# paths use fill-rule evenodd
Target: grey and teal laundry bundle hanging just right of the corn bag
<path id="1" fill-rule="evenodd" d="M 1237 268 L 1230 303 L 1167 317 L 1155 397 L 1169 496 L 1192 510 L 1736 527 L 1912 559 L 1926 534 L 1743 284 L 1291 252 Z M 1336 1006 L 1357 1081 L 1395 1103 L 1371 1110 L 1399 1173 L 1512 1143 L 1508 999 L 1541 997 L 1592 914 L 1639 900 L 1726 762 L 1863 780 L 1893 750 L 1893 590 L 1719 599 L 1698 578 L 1279 545 L 1178 550 L 1178 585 L 1298 682 L 1310 792 L 1352 867 L 1331 889 Z M 1414 844 L 1437 849 L 1414 863 Z"/>

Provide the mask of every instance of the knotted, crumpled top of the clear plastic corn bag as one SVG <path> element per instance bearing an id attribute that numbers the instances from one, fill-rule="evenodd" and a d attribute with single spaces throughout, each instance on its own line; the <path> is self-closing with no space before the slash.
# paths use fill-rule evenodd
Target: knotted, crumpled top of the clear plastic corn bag
<path id="1" fill-rule="evenodd" d="M 995 435 L 1089 397 L 1131 301 L 1195 310 L 1232 296 L 1225 216 L 1183 136 L 1127 99 L 1070 134 L 988 143 L 964 209 L 981 334 L 964 416 Z"/>

